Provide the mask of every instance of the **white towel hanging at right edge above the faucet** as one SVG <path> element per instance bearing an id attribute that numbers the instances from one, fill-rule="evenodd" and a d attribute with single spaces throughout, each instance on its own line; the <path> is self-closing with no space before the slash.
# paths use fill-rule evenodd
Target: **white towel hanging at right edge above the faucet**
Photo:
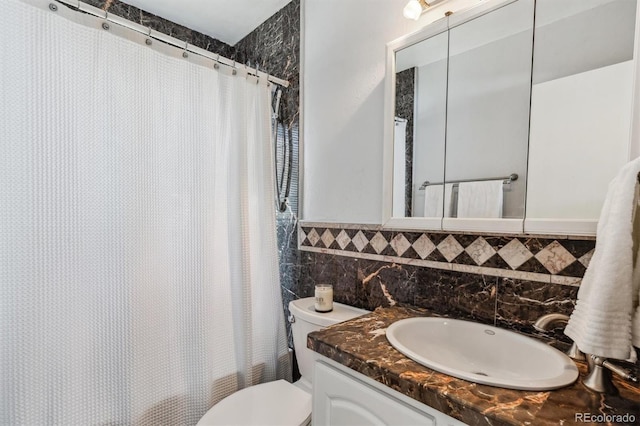
<path id="1" fill-rule="evenodd" d="M 631 345 L 640 346 L 637 311 L 633 319 L 640 292 L 638 172 L 640 158 L 625 165 L 609 183 L 595 252 L 564 332 L 583 352 L 606 358 L 635 360 Z"/>

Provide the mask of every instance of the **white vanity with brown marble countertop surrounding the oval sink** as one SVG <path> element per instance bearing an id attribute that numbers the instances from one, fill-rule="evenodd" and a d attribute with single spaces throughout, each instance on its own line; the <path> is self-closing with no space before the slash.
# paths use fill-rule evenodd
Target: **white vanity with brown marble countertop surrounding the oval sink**
<path id="1" fill-rule="evenodd" d="M 316 362 L 314 378 L 315 425 L 550 426 L 584 424 L 586 416 L 600 415 L 609 416 L 613 424 L 640 420 L 638 387 L 614 378 L 619 395 L 591 392 L 581 383 L 587 373 L 581 363 L 575 383 L 551 391 L 481 385 L 424 367 L 396 351 L 385 337 L 392 323 L 417 316 L 430 312 L 378 308 L 309 334 L 308 347 L 323 355 Z M 622 420 L 625 415 L 627 420 Z"/>

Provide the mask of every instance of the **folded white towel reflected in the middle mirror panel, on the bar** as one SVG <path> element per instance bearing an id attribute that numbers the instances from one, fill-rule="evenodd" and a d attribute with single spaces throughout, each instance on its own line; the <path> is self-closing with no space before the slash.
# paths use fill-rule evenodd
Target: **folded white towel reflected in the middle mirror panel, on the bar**
<path id="1" fill-rule="evenodd" d="M 502 180 L 460 183 L 458 217 L 502 217 L 502 186 Z"/>

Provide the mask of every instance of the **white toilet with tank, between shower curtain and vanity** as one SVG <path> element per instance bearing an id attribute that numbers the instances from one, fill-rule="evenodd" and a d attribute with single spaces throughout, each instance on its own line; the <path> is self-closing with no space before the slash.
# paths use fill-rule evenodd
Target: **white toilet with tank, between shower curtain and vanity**
<path id="1" fill-rule="evenodd" d="M 333 311 L 320 313 L 315 299 L 289 303 L 293 346 L 301 378 L 295 383 L 276 380 L 242 389 L 214 405 L 197 426 L 305 426 L 311 424 L 311 380 L 317 354 L 307 349 L 307 334 L 332 324 L 369 313 L 363 309 L 333 304 Z"/>

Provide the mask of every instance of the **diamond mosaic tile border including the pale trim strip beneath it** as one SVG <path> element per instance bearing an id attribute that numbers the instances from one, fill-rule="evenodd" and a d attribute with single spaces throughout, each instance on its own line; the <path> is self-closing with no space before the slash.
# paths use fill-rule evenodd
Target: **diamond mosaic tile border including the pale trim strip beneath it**
<path id="1" fill-rule="evenodd" d="M 300 250 L 471 274 L 578 286 L 595 238 L 461 234 L 378 225 L 299 224 Z"/>

